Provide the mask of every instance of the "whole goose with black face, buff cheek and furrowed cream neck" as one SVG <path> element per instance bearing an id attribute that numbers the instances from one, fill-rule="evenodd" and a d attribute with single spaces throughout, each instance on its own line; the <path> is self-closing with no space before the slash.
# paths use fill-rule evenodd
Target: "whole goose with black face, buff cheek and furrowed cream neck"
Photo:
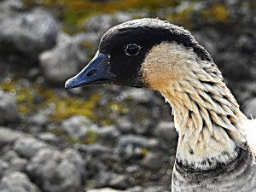
<path id="1" fill-rule="evenodd" d="M 256 191 L 253 126 L 190 32 L 159 19 L 113 26 L 66 89 L 119 84 L 159 90 L 178 132 L 172 191 Z M 254 134 L 255 136 L 256 134 Z M 256 139 L 256 138 L 255 138 Z"/>

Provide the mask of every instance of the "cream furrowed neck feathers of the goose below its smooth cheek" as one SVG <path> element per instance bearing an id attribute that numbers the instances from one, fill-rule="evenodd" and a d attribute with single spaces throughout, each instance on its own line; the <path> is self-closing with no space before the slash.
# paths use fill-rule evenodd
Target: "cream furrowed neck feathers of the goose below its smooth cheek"
<path id="1" fill-rule="evenodd" d="M 203 70 L 191 71 L 161 93 L 172 106 L 179 133 L 177 160 L 207 170 L 236 158 L 236 145 L 246 141 L 241 129 L 246 118 L 221 74 L 213 78 Z"/>

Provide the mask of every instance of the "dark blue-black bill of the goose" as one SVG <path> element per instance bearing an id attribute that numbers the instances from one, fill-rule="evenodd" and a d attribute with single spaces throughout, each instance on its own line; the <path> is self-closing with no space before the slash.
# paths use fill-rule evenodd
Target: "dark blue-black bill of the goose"
<path id="1" fill-rule="evenodd" d="M 90 63 L 84 69 L 65 84 L 65 89 L 69 90 L 84 84 L 110 83 L 113 73 L 109 72 L 110 55 L 96 53 Z"/>

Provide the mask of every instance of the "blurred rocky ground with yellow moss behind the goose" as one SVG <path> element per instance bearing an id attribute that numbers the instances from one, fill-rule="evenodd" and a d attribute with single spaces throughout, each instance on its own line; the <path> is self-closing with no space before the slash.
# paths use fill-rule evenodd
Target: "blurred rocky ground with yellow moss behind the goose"
<path id="1" fill-rule="evenodd" d="M 189 29 L 256 116 L 253 0 L 0 0 L 0 191 L 171 191 L 177 133 L 158 92 L 64 90 L 108 28 L 143 17 Z"/>

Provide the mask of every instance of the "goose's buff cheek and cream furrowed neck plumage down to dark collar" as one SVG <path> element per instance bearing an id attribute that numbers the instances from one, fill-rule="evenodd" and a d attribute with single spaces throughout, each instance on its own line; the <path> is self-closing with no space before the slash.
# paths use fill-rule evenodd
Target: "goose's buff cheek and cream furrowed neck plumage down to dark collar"
<path id="1" fill-rule="evenodd" d="M 167 58 L 158 60 L 164 67 L 155 72 L 150 55 L 158 50 L 166 51 Z M 246 143 L 241 125 L 247 118 L 213 61 L 201 61 L 192 49 L 165 43 L 152 49 L 144 63 L 145 79 L 172 106 L 179 135 L 177 162 L 209 170 L 236 159 L 237 146 Z"/>

